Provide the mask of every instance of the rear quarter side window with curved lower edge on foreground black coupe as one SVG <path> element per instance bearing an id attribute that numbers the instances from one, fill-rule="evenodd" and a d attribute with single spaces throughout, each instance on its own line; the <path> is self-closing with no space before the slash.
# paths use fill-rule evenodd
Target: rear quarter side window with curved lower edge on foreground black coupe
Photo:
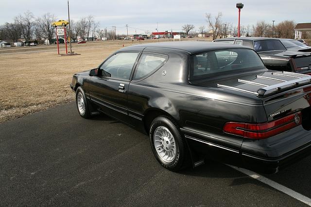
<path id="1" fill-rule="evenodd" d="M 167 56 L 143 53 L 136 67 L 133 80 L 139 80 L 151 74 L 159 68 L 167 59 Z"/>

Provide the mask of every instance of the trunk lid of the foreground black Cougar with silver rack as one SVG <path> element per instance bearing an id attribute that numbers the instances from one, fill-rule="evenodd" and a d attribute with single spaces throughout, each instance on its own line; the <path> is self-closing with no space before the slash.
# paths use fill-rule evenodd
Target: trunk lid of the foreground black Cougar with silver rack
<path id="1" fill-rule="evenodd" d="M 298 73 L 268 71 L 241 79 L 218 81 L 217 87 L 236 91 L 262 100 L 268 121 L 302 111 L 309 121 L 311 76 Z"/>

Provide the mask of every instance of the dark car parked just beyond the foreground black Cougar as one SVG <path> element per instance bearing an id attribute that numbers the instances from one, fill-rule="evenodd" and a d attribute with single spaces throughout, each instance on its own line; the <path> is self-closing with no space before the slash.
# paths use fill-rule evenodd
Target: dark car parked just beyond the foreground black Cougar
<path id="1" fill-rule="evenodd" d="M 311 74 L 311 52 L 288 50 L 277 38 L 239 37 L 234 44 L 255 49 L 268 69 Z"/>

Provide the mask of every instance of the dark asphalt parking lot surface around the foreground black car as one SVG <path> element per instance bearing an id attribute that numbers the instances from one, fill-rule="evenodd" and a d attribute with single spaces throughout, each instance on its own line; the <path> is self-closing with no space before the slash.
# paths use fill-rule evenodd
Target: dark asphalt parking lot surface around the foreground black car
<path id="1" fill-rule="evenodd" d="M 305 206 L 213 161 L 173 173 L 148 137 L 75 103 L 0 124 L 0 206 Z M 311 198 L 311 156 L 265 175 Z"/>

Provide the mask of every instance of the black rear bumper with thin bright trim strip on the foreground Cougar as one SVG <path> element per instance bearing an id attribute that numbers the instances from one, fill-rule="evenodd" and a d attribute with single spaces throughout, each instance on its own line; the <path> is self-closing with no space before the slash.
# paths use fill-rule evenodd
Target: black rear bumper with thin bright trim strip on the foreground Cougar
<path id="1" fill-rule="evenodd" d="M 276 173 L 311 154 L 311 135 L 309 134 L 295 139 L 295 141 L 291 137 L 286 137 L 277 144 L 271 140 L 263 141 L 266 142 L 264 144 L 262 141 L 254 140 L 250 141 L 252 144 L 244 142 L 246 146 L 242 143 L 240 150 L 207 142 L 204 137 L 194 137 L 193 133 L 191 135 L 185 133 L 185 137 L 191 150 L 205 155 L 207 159 L 214 159 L 265 174 Z"/>

